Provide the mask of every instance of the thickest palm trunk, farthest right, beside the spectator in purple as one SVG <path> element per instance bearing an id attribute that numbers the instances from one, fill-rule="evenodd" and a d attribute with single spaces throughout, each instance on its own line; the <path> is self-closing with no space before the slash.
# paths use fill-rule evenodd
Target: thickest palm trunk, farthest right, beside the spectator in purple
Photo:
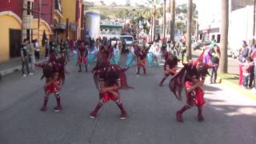
<path id="1" fill-rule="evenodd" d="M 222 0 L 221 54 L 219 62 L 220 73 L 227 73 L 227 41 L 229 32 L 229 0 Z"/>

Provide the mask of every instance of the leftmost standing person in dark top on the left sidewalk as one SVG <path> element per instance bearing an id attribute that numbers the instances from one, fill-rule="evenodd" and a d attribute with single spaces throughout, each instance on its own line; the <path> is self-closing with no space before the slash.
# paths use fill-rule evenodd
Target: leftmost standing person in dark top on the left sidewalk
<path id="1" fill-rule="evenodd" d="M 22 43 L 22 47 L 21 47 L 21 50 L 20 50 L 20 53 L 21 53 L 21 58 L 22 58 L 22 76 L 23 77 L 26 77 L 26 74 L 25 74 L 25 66 L 26 66 L 26 73 L 28 75 L 31 75 L 30 73 L 30 67 L 29 67 L 29 56 L 28 56 L 28 53 L 27 53 L 27 43 L 26 43 L 26 39 L 23 40 L 23 43 Z"/>

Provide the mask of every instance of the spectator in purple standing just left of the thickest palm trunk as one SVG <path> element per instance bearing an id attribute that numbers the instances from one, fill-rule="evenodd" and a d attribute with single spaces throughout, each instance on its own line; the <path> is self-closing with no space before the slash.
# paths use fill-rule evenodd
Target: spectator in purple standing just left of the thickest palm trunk
<path id="1" fill-rule="evenodd" d="M 210 50 L 210 62 L 214 67 L 211 69 L 211 76 L 210 76 L 210 83 L 216 83 L 217 79 L 217 71 L 218 71 L 218 64 L 219 64 L 219 58 L 221 57 L 221 52 L 219 50 L 219 47 L 217 45 L 214 45 L 214 50 Z"/>

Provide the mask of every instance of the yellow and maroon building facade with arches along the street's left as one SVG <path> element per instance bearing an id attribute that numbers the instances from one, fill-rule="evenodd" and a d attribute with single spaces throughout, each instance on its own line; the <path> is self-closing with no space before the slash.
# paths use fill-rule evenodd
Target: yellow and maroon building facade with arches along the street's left
<path id="1" fill-rule="evenodd" d="M 41 17 L 38 10 L 42 10 Z M 83 11 L 83 0 L 1 2 L 0 62 L 18 58 L 22 40 L 25 38 L 30 39 L 30 41 L 37 38 L 41 46 L 44 31 L 46 38 L 51 40 L 82 38 Z M 48 15 L 46 16 L 46 14 Z M 39 30 L 38 17 L 40 18 Z M 43 51 L 44 48 L 41 50 Z"/>

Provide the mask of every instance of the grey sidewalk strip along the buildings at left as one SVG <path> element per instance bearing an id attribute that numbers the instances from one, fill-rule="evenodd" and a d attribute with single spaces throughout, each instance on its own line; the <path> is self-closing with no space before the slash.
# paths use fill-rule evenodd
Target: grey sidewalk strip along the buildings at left
<path id="1" fill-rule="evenodd" d="M 36 63 L 43 62 L 44 60 L 45 60 L 44 55 L 40 55 L 40 59 Z M 6 74 L 11 74 L 18 70 L 22 70 L 21 58 L 14 58 L 6 62 L 1 62 L 0 63 L 0 79 Z"/>

